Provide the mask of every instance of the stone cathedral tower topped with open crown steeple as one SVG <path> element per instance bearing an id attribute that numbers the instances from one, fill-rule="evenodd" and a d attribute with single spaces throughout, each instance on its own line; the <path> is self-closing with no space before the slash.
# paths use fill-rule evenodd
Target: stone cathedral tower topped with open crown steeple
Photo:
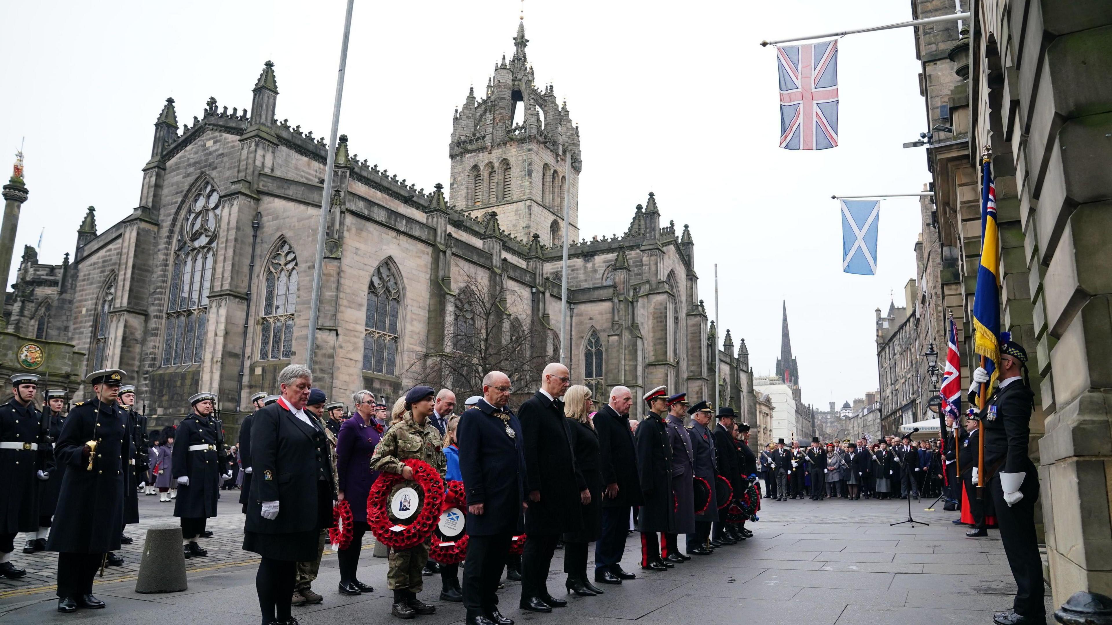
<path id="1" fill-rule="evenodd" d="M 526 58 L 525 22 L 513 38 L 514 54 L 495 63 L 486 97 L 468 92 L 453 115 L 451 204 L 474 217 L 498 211 L 503 228 L 522 239 L 540 235 L 540 244 L 559 242 L 564 231 L 564 201 L 569 204 L 569 236 L 578 228 L 579 129 L 555 89 L 540 89 Z"/>

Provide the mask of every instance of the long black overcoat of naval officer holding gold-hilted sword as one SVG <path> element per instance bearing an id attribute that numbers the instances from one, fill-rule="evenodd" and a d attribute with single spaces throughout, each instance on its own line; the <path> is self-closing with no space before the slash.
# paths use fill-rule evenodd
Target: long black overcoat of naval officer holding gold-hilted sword
<path id="1" fill-rule="evenodd" d="M 92 470 L 82 455 L 88 440 L 97 442 Z M 127 415 L 116 404 L 93 399 L 73 406 L 54 446 L 56 462 L 66 470 L 48 552 L 102 554 L 120 548 L 130 447 Z"/>

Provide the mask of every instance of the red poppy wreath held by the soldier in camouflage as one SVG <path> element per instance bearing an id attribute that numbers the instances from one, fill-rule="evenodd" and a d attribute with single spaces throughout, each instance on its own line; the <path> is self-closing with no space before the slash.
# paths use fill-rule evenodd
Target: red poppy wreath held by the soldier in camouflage
<path id="1" fill-rule="evenodd" d="M 413 469 L 413 482 L 417 483 L 416 489 L 419 490 L 420 508 L 407 519 L 408 525 L 403 525 L 401 520 L 391 518 L 390 515 L 390 498 L 395 486 L 409 484 L 400 475 L 385 472 L 379 474 L 367 496 L 367 525 L 370 526 L 370 533 L 378 542 L 399 552 L 416 547 L 428 538 L 436 529 L 444 509 L 444 478 L 440 473 L 424 460 L 408 459 L 401 464 Z"/>

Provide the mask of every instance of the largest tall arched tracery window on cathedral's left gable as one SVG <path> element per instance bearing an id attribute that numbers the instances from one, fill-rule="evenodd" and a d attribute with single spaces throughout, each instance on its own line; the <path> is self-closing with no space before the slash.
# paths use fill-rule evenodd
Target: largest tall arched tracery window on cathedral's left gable
<path id="1" fill-rule="evenodd" d="M 166 307 L 162 366 L 201 361 L 219 222 L 220 194 L 206 182 L 190 199 L 178 228 Z"/>

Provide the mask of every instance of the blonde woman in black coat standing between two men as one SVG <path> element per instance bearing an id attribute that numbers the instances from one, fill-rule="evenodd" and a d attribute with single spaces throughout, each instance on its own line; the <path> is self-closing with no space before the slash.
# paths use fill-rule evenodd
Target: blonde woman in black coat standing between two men
<path id="1" fill-rule="evenodd" d="M 568 593 L 579 596 L 600 595 L 603 592 L 587 579 L 587 545 L 598 539 L 602 532 L 603 472 L 599 462 L 598 433 L 592 420 L 594 401 L 590 389 L 575 385 L 564 395 L 564 415 L 570 429 L 572 448 L 575 449 L 575 466 L 590 490 L 590 500 L 583 504 L 583 529 L 564 534 L 564 586 Z"/>

